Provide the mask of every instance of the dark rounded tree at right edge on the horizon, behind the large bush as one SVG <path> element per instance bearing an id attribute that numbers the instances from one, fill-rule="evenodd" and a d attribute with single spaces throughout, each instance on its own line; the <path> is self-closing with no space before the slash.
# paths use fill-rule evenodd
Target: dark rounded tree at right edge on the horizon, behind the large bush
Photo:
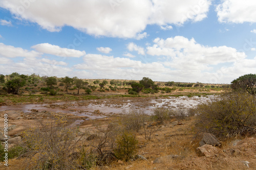
<path id="1" fill-rule="evenodd" d="M 256 94 L 256 75 L 248 74 L 233 80 L 231 88 L 236 91 L 247 91 L 250 94 Z"/>

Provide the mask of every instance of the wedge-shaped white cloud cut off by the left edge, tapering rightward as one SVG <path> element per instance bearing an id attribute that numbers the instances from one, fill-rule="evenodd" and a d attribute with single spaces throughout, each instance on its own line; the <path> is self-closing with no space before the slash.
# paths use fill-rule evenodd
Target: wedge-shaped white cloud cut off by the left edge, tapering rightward
<path id="1" fill-rule="evenodd" d="M 0 43 L 0 57 L 15 58 L 15 57 L 40 57 L 41 53 L 35 51 L 24 50 L 20 47 L 5 45 Z"/>

